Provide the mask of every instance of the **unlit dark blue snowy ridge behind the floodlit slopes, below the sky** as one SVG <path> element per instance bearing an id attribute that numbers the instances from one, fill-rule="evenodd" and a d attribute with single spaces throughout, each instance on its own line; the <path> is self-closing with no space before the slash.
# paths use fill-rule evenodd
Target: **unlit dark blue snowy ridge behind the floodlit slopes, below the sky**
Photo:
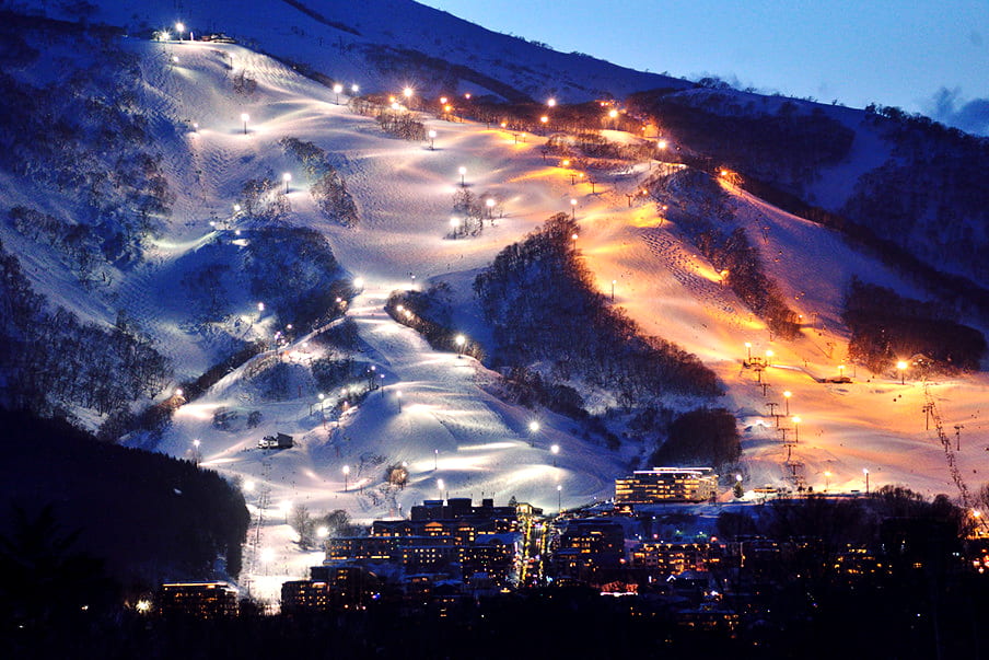
<path id="1" fill-rule="evenodd" d="M 50 3 L 34 4 L 49 15 L 67 13 Z M 510 101 L 558 95 L 574 103 L 690 84 L 580 54 L 557 53 L 411 0 L 222 0 L 187 5 L 170 0 L 139 5 L 106 0 L 92 7 L 88 18 L 131 33 L 174 33 L 176 22 L 197 35 L 224 33 L 348 86 L 358 83 L 368 92 L 411 85 L 427 95 L 470 92 Z"/>

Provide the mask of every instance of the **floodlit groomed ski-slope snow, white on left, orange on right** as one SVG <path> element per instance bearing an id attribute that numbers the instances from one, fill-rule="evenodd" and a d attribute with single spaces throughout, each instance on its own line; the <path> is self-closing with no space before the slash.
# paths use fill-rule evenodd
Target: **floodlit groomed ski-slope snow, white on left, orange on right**
<path id="1" fill-rule="evenodd" d="M 655 163 L 636 173 L 605 178 L 592 194 L 587 185 L 570 185 L 570 177 L 539 153 L 542 138 L 515 143 L 511 134 L 465 123 L 429 120 L 438 131 L 435 149 L 384 137 L 369 118 L 350 114 L 335 103 L 333 92 L 295 74 L 290 68 L 246 48 L 190 43 L 132 42 L 141 55 L 148 81 L 143 100 L 154 115 L 165 169 L 179 198 L 166 233 L 152 259 L 132 278 L 117 282 L 121 304 L 138 319 L 177 363 L 181 373 L 196 373 L 222 354 L 178 322 L 181 299 L 170 286 L 175 265 L 193 258 L 212 235 L 210 212 L 229 218 L 240 185 L 267 170 L 291 171 L 291 222 L 315 228 L 328 238 L 340 263 L 365 281 L 349 315 L 364 343 L 363 359 L 385 374 L 385 386 L 371 393 L 339 419 L 324 421 L 305 363 L 316 349 L 299 343 L 283 357 L 298 364 L 299 396 L 283 402 L 261 400 L 251 379 L 248 362 L 229 374 L 203 397 L 179 408 L 156 449 L 176 456 L 200 459 L 203 466 L 243 478 L 255 525 L 245 552 L 245 572 L 253 592 L 277 600 L 286 579 L 306 576 L 321 553 L 298 551 L 286 524 L 284 502 L 302 503 L 314 513 L 336 508 L 354 519 L 398 516 L 424 498 L 515 496 L 548 510 L 557 507 L 557 485 L 565 507 L 613 495 L 614 478 L 632 466 L 641 451 L 609 452 L 578 436 L 574 422 L 546 412 L 507 404 L 494 395 L 496 374 L 475 360 L 431 349 L 411 329 L 396 324 L 383 310 L 397 287 L 442 278 L 465 298 L 473 274 L 504 245 L 521 239 L 554 212 L 568 210 L 571 197 L 582 231 L 579 245 L 601 290 L 616 280 L 616 304 L 649 334 L 656 334 L 697 354 L 729 389 L 721 405 L 733 410 L 743 432 L 746 484 L 786 485 L 787 451 L 772 429 L 767 402 L 782 404 L 790 390 L 790 412 L 800 415 L 800 442 L 793 458 L 798 472 L 815 490 L 904 484 L 917 490 L 957 496 L 945 450 L 933 431 L 924 430 L 924 390 L 935 402 L 944 426 L 964 424 L 963 451 L 954 455 L 970 488 L 989 471 L 989 437 L 981 406 L 989 392 L 985 373 L 900 385 L 895 373 L 856 372 L 850 384 L 824 384 L 837 375 L 846 359 L 847 331 L 839 322 L 841 296 L 848 278 L 858 273 L 869 281 L 912 293 L 908 282 L 850 248 L 833 232 L 783 213 L 738 190 L 728 188 L 740 209 L 738 221 L 751 229 L 766 257 L 770 275 L 781 283 L 791 304 L 814 319 L 803 337 L 770 341 L 755 319 L 676 228 L 642 201 L 629 207 L 626 193 Z M 168 56 L 177 55 L 177 65 Z M 230 91 L 226 65 L 249 70 L 258 83 L 249 97 Z M 251 115 L 243 134 L 240 114 Z M 176 124 L 199 124 L 198 131 L 175 134 Z M 342 228 L 318 215 L 301 187 L 305 175 L 283 155 L 278 139 L 294 136 L 330 153 L 361 211 L 362 222 Z M 467 167 L 467 184 L 476 193 L 492 192 L 504 199 L 505 216 L 477 239 L 445 239 L 452 195 L 459 185 L 458 166 Z M 196 171 L 199 171 L 198 175 Z M 761 227 L 768 228 L 763 239 Z M 226 232 L 229 236 L 230 232 Z M 44 264 L 28 268 L 38 289 L 62 302 L 60 282 L 48 278 Z M 62 292 L 60 292 L 62 291 Z M 258 317 L 242 293 L 244 336 L 269 336 L 270 320 Z M 83 303 L 73 309 L 89 317 L 110 321 L 108 310 Z M 462 316 L 458 327 L 470 336 L 485 329 Z M 755 374 L 741 368 L 744 343 L 754 355 L 772 349 L 776 356 L 765 380 L 768 396 Z M 259 359 L 270 359 L 260 356 Z M 816 380 L 815 380 L 816 379 Z M 399 412 L 398 393 L 402 393 Z M 338 393 L 330 393 L 329 405 Z M 315 407 L 314 407 L 315 405 Z M 220 407 L 260 410 L 260 426 L 218 430 L 213 412 Z M 527 422 L 538 418 L 531 435 Z M 787 424 L 786 421 L 783 424 Z M 789 424 L 792 427 L 792 424 Z M 257 440 L 281 431 L 295 437 L 290 450 L 263 452 Z M 195 448 L 194 441 L 200 445 Z M 554 464 L 549 447 L 560 445 Z M 384 467 L 405 461 L 409 485 L 389 493 L 382 487 Z M 344 465 L 350 467 L 345 486 Z M 638 465 L 636 465 L 638 466 Z M 825 472 L 830 476 L 826 477 Z M 441 489 L 439 479 L 443 479 Z M 253 488 L 248 489 L 248 484 Z"/>

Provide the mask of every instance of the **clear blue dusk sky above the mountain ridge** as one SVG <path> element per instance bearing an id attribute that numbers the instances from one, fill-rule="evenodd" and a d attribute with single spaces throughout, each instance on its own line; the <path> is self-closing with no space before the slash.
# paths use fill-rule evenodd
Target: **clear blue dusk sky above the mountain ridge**
<path id="1" fill-rule="evenodd" d="M 870 102 L 989 134 L 989 1 L 426 0 L 490 30 L 617 65 Z"/>

